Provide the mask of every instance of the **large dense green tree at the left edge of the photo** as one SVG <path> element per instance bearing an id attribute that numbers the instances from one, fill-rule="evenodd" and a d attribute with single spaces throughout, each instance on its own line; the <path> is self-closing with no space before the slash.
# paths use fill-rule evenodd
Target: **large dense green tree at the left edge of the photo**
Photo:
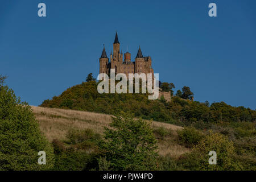
<path id="1" fill-rule="evenodd" d="M 38 164 L 39 151 L 46 152 L 46 165 Z M 0 171 L 44 170 L 53 165 L 53 148 L 41 134 L 31 107 L 20 102 L 8 86 L 1 86 Z"/>

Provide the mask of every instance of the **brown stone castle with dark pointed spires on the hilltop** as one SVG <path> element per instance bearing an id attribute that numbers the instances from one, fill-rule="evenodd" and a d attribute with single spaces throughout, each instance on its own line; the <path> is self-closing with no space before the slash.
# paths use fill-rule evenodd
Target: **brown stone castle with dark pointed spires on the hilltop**
<path id="1" fill-rule="evenodd" d="M 135 61 L 131 61 L 131 53 L 126 52 L 123 60 L 123 53 L 120 53 L 120 43 L 118 41 L 117 32 L 115 33 L 115 40 L 113 43 L 113 55 L 112 51 L 109 58 L 106 55 L 105 46 L 103 48 L 100 57 L 100 73 L 106 73 L 109 75 L 110 69 L 115 69 L 115 73 L 124 73 L 127 77 L 129 73 L 152 73 L 154 75 L 154 69 L 151 67 L 151 57 L 143 57 L 141 47 L 139 47 Z M 154 77 L 154 76 L 153 76 Z"/>

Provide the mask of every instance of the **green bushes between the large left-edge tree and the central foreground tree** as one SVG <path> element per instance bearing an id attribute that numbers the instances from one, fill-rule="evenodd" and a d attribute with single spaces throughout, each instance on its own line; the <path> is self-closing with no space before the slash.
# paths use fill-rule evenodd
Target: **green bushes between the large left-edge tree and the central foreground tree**
<path id="1" fill-rule="evenodd" d="M 56 156 L 54 169 L 60 171 L 90 170 L 98 167 L 97 156 L 100 155 L 98 144 L 100 135 L 92 130 L 70 130 L 67 140 L 53 140 Z"/>

